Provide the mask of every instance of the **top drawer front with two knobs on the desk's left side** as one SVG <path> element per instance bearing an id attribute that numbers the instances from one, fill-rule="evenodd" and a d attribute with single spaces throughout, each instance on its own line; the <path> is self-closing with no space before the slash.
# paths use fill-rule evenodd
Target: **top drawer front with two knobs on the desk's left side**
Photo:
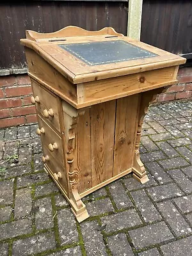
<path id="1" fill-rule="evenodd" d="M 56 96 L 47 92 L 47 90 L 33 80 L 31 80 L 31 84 L 34 97 L 31 102 L 35 103 L 37 113 L 44 116 L 49 124 L 60 131 Z"/>

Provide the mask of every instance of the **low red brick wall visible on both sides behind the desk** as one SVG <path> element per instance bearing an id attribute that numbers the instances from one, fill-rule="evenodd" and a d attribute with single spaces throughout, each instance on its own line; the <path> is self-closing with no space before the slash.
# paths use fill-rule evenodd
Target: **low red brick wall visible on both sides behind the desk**
<path id="1" fill-rule="evenodd" d="M 158 95 L 154 103 L 192 99 L 192 67 L 180 68 L 177 79 L 179 84 Z M 0 77 L 0 127 L 36 122 L 31 93 L 28 75 Z"/>

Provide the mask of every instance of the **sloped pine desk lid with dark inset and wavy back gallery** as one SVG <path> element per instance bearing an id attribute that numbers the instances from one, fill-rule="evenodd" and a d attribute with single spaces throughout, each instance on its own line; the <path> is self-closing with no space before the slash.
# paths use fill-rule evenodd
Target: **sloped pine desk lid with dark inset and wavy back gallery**
<path id="1" fill-rule="evenodd" d="M 116 33 L 68 26 L 54 33 L 26 31 L 21 44 L 36 51 L 72 83 L 124 76 L 185 63 L 186 59 Z"/>

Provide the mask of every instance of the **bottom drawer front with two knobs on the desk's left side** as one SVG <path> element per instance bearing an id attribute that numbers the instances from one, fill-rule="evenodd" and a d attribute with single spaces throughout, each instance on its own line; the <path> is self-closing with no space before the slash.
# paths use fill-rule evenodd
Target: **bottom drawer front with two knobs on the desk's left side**
<path id="1" fill-rule="evenodd" d="M 45 167 L 49 167 L 48 171 L 51 172 L 52 179 L 56 180 L 68 195 L 67 171 L 64 169 L 63 165 L 52 156 L 46 147 L 43 148 L 43 152 L 44 156 L 42 160 L 45 163 Z"/>

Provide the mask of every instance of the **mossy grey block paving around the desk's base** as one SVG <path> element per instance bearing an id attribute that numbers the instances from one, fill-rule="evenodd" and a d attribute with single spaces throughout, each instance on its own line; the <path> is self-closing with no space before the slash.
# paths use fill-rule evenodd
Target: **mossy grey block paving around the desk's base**
<path id="1" fill-rule="evenodd" d="M 151 106 L 141 138 L 150 180 L 127 175 L 83 199 L 77 223 L 42 170 L 37 125 L 0 130 L 0 255 L 192 255 L 192 102 Z"/>

